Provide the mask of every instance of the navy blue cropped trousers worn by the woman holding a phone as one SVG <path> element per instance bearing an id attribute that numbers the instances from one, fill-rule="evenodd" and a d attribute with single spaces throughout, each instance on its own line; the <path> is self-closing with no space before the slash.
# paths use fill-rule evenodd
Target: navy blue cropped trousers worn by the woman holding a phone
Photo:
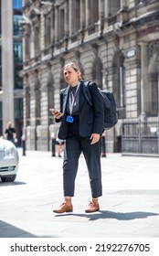
<path id="1" fill-rule="evenodd" d="M 91 197 L 101 197 L 101 139 L 96 144 L 90 144 L 90 137 L 80 137 L 79 123 L 69 123 L 63 163 L 64 196 L 74 196 L 81 152 L 89 171 Z"/>

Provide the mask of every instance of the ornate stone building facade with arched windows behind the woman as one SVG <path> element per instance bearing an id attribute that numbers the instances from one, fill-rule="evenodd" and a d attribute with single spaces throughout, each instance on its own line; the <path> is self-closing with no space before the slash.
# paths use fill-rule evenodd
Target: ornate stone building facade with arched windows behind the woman
<path id="1" fill-rule="evenodd" d="M 107 132 L 107 152 L 121 152 L 123 120 L 157 118 L 158 0 L 24 0 L 21 29 L 27 149 L 50 149 L 58 124 L 48 109 L 59 109 L 69 60 L 114 93 L 119 122 Z"/>

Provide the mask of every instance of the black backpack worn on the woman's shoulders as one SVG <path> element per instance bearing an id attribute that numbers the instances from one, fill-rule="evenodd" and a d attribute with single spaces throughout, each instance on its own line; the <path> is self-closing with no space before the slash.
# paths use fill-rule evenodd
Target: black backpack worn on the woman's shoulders
<path id="1" fill-rule="evenodd" d="M 91 81 L 84 82 L 83 92 L 86 100 L 92 106 L 92 99 L 89 90 L 89 83 Z M 101 93 L 101 102 L 104 104 L 104 129 L 109 130 L 116 123 L 118 123 L 118 115 L 116 112 L 116 103 L 112 91 L 101 90 L 98 88 Z"/>

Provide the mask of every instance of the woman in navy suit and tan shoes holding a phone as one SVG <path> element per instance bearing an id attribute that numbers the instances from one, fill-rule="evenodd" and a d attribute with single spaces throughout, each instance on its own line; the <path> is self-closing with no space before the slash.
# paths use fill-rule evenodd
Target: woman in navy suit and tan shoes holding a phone
<path id="1" fill-rule="evenodd" d="M 64 78 L 69 87 L 60 91 L 60 112 L 50 109 L 56 122 L 60 122 L 58 138 L 65 140 L 63 162 L 64 202 L 53 212 L 64 213 L 73 210 L 75 178 L 79 158 L 83 153 L 90 176 L 91 201 L 85 212 L 100 209 L 101 197 L 101 134 L 103 132 L 104 108 L 101 95 L 94 82 L 89 84 L 93 107 L 84 97 L 80 68 L 75 62 L 69 62 L 63 69 Z"/>

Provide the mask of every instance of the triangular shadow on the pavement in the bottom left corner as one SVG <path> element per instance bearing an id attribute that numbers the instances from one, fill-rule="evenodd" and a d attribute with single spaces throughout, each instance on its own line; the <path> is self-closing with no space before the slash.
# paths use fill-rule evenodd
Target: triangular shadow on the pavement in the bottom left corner
<path id="1" fill-rule="evenodd" d="M 0 220 L 0 238 L 36 238 L 37 236 L 18 229 L 13 225 Z"/>

